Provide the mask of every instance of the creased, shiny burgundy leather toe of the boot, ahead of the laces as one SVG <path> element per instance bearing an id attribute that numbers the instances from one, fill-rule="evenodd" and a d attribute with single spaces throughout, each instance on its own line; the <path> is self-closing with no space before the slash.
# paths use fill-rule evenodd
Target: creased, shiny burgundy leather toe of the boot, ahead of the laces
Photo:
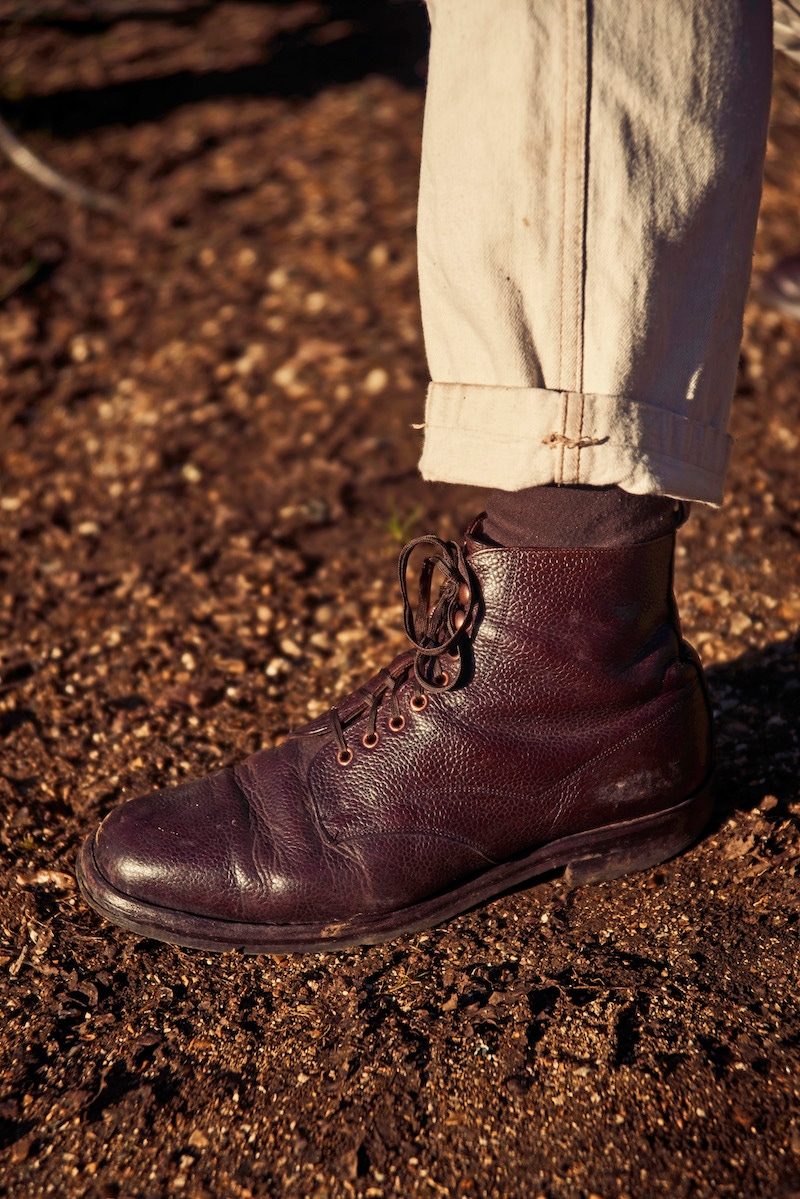
<path id="1" fill-rule="evenodd" d="M 118 894 L 172 912 L 277 926 L 344 915 L 353 898 L 275 752 L 121 805 L 92 849 Z"/>

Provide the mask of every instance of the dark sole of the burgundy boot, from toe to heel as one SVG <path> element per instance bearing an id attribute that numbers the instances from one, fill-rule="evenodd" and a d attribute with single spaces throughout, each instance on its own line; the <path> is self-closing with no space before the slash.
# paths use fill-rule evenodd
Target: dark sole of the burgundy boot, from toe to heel
<path id="1" fill-rule="evenodd" d="M 633 870 L 646 870 L 697 840 L 711 808 L 709 781 L 688 800 L 664 812 L 563 837 L 432 899 L 398 911 L 341 923 L 239 923 L 193 916 L 134 899 L 113 887 L 101 873 L 95 858 L 96 833 L 80 849 L 76 875 L 82 894 L 101 916 L 140 936 L 215 952 L 315 953 L 356 945 L 379 945 L 404 933 L 419 933 L 554 870 L 564 869 L 564 881 L 569 887 L 606 882 Z"/>

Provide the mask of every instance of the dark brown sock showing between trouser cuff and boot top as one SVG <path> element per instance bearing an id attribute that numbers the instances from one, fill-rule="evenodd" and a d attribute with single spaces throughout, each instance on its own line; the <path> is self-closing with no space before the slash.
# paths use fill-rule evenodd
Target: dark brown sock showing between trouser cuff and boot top
<path id="1" fill-rule="evenodd" d="M 560 548 L 634 546 L 684 523 L 688 504 L 631 495 L 620 487 L 527 487 L 492 492 L 482 538 L 495 546 Z"/>

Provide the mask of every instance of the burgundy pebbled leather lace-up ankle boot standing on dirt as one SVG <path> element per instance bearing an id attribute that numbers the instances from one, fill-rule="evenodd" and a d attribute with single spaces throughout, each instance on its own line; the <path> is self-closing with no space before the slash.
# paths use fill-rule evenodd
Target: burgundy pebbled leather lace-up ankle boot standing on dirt
<path id="1" fill-rule="evenodd" d="M 711 733 L 673 546 L 411 543 L 415 649 L 277 749 L 118 808 L 80 852 L 84 896 L 160 940 L 285 953 L 679 852 L 709 815 Z"/>

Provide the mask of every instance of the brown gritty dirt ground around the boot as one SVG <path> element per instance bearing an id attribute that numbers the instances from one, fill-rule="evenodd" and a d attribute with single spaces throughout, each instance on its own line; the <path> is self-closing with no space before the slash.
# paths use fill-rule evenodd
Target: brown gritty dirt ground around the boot
<path id="1" fill-rule="evenodd" d="M 702 843 L 307 958 L 182 952 L 76 893 L 112 807 L 389 661 L 399 546 L 480 510 L 415 472 L 425 53 L 391 0 L 0 38 L 13 128 L 125 205 L 0 167 L 2 1194 L 800 1195 L 800 325 L 758 301 L 800 248 L 796 67 L 727 500 L 681 536 Z"/>

